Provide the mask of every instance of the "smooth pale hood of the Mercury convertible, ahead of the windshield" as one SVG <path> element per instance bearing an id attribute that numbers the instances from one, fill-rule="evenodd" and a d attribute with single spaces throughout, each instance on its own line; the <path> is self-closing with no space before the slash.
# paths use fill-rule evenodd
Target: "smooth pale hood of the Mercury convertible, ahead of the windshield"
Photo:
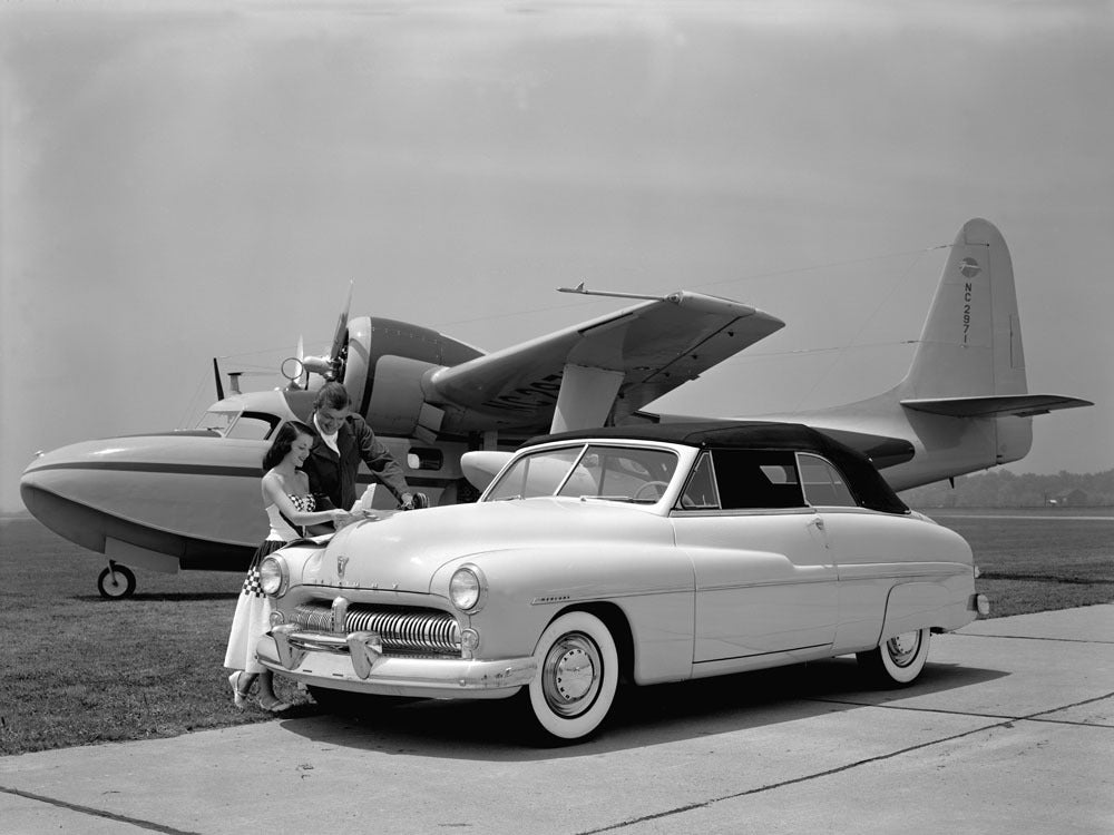
<path id="1" fill-rule="evenodd" d="M 439 568 L 476 554 L 529 548 L 577 549 L 673 542 L 673 527 L 648 508 L 578 499 L 526 499 L 394 513 L 336 533 L 302 569 L 306 584 L 428 593 Z"/>

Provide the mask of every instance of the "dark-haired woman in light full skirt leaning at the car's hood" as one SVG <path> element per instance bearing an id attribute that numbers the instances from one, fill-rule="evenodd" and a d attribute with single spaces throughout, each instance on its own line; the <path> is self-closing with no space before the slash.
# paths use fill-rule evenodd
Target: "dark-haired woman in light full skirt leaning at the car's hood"
<path id="1" fill-rule="evenodd" d="M 260 681 L 260 707 L 277 713 L 290 707 L 281 701 L 274 691 L 274 677 L 255 660 L 255 645 L 271 628 L 271 598 L 260 588 L 260 563 L 263 558 L 277 551 L 287 542 L 302 536 L 306 524 L 333 522 L 338 528 L 354 520 L 343 510 L 314 511 L 310 494 L 310 480 L 299 468 L 310 454 L 313 431 L 304 423 L 284 423 L 271 449 L 263 456 L 263 507 L 271 520 L 271 533 L 256 549 L 232 620 L 228 650 L 224 666 L 235 672 L 228 676 L 236 707 L 243 708 L 248 690 L 257 678 Z"/>

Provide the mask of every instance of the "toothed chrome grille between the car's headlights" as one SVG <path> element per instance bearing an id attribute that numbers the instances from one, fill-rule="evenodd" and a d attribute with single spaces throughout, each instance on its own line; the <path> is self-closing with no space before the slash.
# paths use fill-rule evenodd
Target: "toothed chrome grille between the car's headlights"
<path id="1" fill-rule="evenodd" d="M 302 603 L 294 609 L 293 622 L 301 629 L 332 632 L 332 601 Z M 351 603 L 344 618 L 344 628 L 338 631 L 379 632 L 385 652 L 460 655 L 460 626 L 457 619 L 437 609 Z"/>

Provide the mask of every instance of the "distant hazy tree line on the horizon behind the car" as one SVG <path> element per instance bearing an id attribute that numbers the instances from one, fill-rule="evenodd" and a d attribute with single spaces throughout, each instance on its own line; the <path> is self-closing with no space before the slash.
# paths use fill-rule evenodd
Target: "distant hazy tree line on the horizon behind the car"
<path id="1" fill-rule="evenodd" d="M 903 490 L 901 500 L 915 508 L 1096 508 L 1114 504 L 1114 470 L 1055 475 L 994 470 Z"/>

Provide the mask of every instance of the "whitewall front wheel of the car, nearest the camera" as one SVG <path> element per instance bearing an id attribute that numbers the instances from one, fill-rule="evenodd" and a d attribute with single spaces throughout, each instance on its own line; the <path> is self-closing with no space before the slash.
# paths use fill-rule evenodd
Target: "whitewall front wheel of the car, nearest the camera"
<path id="1" fill-rule="evenodd" d="M 604 622 L 585 611 L 563 615 L 541 633 L 534 654 L 530 711 L 557 740 L 583 739 L 607 716 L 618 685 L 618 652 Z"/>

